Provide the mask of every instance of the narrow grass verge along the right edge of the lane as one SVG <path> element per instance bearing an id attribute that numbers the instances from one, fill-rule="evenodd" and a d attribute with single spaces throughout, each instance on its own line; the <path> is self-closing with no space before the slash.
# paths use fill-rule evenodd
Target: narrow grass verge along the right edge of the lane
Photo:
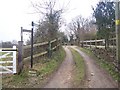
<path id="1" fill-rule="evenodd" d="M 99 64 L 103 69 L 105 69 L 116 81 L 120 81 L 120 74 L 118 74 L 114 69 L 113 69 L 113 65 L 108 63 L 107 61 L 103 60 L 103 59 L 99 59 L 97 58 L 92 50 L 87 49 L 87 48 L 79 48 L 81 51 L 85 52 L 87 55 L 89 55 L 90 57 L 92 57 L 94 60 L 96 60 L 97 64 Z"/>

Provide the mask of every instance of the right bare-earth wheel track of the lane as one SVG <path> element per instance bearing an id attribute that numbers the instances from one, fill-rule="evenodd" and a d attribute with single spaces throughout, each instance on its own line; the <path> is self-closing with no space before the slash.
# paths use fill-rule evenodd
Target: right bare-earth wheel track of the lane
<path id="1" fill-rule="evenodd" d="M 81 50 L 77 49 L 75 46 L 71 46 L 73 49 L 78 51 L 80 55 L 85 60 L 87 81 L 86 84 L 90 88 L 117 88 L 117 83 L 112 79 L 112 77 L 101 69 L 95 61 L 86 55 Z"/>

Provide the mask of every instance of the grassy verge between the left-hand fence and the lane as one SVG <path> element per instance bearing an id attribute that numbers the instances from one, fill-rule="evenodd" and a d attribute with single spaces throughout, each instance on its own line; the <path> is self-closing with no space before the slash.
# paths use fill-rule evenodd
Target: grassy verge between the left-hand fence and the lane
<path id="1" fill-rule="evenodd" d="M 41 58 L 39 62 L 34 64 L 33 69 L 37 70 L 37 76 L 30 76 L 30 69 L 24 68 L 20 75 L 3 77 L 3 87 L 42 87 L 47 82 L 47 78 L 57 70 L 65 56 L 65 51 L 61 47 L 58 51 L 53 52 L 51 58 Z"/>

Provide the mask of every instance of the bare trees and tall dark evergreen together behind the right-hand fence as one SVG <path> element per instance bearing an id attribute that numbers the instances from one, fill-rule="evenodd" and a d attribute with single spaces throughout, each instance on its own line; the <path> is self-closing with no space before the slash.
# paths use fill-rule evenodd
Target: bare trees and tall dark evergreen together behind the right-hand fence
<path id="1" fill-rule="evenodd" d="M 93 11 L 94 18 L 85 19 L 78 16 L 69 23 L 68 29 L 75 35 L 78 45 L 80 45 L 80 40 L 103 38 L 105 39 L 105 48 L 107 48 L 109 47 L 109 38 L 115 36 L 114 2 L 110 0 L 100 1 L 93 8 Z"/>

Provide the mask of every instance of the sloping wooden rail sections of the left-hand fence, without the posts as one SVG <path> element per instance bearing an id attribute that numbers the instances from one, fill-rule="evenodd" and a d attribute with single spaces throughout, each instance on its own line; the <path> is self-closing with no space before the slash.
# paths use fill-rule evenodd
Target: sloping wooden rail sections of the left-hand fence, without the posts
<path id="1" fill-rule="evenodd" d="M 47 49 L 49 47 L 49 44 L 51 44 L 51 50 L 55 50 L 58 46 L 60 46 L 60 39 L 55 39 L 50 42 L 43 42 L 43 43 L 38 43 L 33 45 L 33 58 L 40 57 L 42 55 L 45 55 L 48 53 Z M 24 46 L 23 47 L 23 58 L 24 60 L 30 59 L 30 45 Z"/>

